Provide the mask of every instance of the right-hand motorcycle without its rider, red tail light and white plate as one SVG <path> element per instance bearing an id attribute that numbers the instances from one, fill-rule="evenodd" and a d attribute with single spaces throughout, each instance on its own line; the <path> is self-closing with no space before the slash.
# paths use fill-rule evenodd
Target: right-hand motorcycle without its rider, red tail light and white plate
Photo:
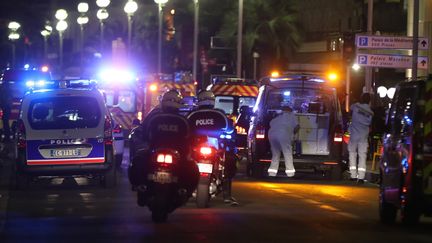
<path id="1" fill-rule="evenodd" d="M 193 157 L 200 172 L 196 190 L 198 208 L 207 208 L 210 199 L 223 192 L 225 180 L 225 139 L 231 135 L 222 134 L 218 138 L 200 136 L 195 139 Z"/>

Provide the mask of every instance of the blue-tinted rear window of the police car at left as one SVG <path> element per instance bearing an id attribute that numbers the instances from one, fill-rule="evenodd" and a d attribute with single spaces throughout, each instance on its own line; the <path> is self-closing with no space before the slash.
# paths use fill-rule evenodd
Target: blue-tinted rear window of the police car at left
<path id="1" fill-rule="evenodd" d="M 28 121 L 35 130 L 95 128 L 101 111 L 92 97 L 54 97 L 30 103 Z"/>

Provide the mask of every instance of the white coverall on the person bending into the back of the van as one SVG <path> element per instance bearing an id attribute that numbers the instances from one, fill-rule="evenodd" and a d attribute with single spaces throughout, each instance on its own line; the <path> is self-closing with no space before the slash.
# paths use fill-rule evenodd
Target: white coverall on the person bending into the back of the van
<path id="1" fill-rule="evenodd" d="M 294 176 L 292 140 L 294 129 L 297 126 L 297 118 L 291 111 L 283 111 L 282 114 L 270 121 L 268 136 L 272 151 L 272 162 L 268 169 L 269 176 L 276 176 L 278 172 L 281 151 L 285 160 L 285 173 L 289 177 Z"/>

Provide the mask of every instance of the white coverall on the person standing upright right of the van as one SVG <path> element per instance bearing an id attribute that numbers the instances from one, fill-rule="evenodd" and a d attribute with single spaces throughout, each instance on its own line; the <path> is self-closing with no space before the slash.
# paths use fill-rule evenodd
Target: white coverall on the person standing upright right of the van
<path id="1" fill-rule="evenodd" d="M 368 149 L 369 126 L 373 111 L 368 104 L 351 105 L 352 119 L 349 126 L 350 140 L 348 143 L 349 169 L 352 179 L 363 180 L 366 175 L 366 156 Z M 357 167 L 357 154 L 359 157 Z"/>

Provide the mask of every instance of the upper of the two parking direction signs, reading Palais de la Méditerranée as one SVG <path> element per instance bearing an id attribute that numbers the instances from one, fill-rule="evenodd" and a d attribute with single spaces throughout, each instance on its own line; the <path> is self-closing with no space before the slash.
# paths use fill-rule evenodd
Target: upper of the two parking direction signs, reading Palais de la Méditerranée
<path id="1" fill-rule="evenodd" d="M 365 49 L 412 49 L 413 38 L 405 36 L 356 35 L 357 48 Z M 418 49 L 429 49 L 428 38 L 418 38 Z"/>

